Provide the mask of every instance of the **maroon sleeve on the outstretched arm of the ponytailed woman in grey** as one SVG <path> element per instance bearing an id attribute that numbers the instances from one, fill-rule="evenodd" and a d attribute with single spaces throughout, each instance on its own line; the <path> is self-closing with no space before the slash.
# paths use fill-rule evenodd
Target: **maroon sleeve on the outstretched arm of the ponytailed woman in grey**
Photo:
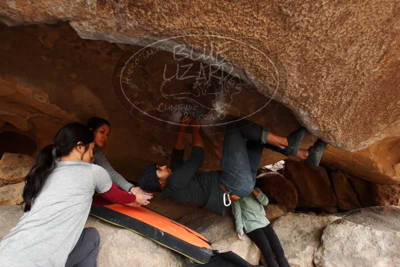
<path id="1" fill-rule="evenodd" d="M 136 200 L 134 194 L 128 193 L 124 190 L 119 189 L 114 183 L 111 188 L 103 193 L 94 193 L 93 201 L 91 205 L 110 205 L 110 204 L 128 204 Z"/>

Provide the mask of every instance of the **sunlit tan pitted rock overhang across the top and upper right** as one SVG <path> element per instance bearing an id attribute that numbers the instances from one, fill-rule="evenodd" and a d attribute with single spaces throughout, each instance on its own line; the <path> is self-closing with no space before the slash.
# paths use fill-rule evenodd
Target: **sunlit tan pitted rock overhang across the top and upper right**
<path id="1" fill-rule="evenodd" d="M 400 96 L 395 90 L 400 24 L 394 15 L 397 8 L 398 3 L 393 1 L 384 4 L 221 1 L 210 5 L 40 0 L 2 2 L 0 15 L 8 25 L 67 19 L 82 38 L 111 42 L 137 43 L 143 36 L 154 39 L 189 32 L 238 39 L 248 44 L 244 46 L 246 50 L 238 50 L 234 43 L 214 40 L 229 48 L 221 49 L 219 56 L 244 68 L 265 94 L 272 95 L 280 81 L 276 97 L 290 106 L 312 133 L 336 146 L 354 149 L 399 133 L 399 118 L 391 112 Z M 180 15 L 183 10 L 185 16 Z M 242 19 L 240 10 L 253 15 Z M 209 38 L 183 36 L 179 41 L 201 49 Z M 272 60 L 274 68 L 268 65 L 268 60 L 256 57 L 257 44 L 257 49 L 262 49 Z M 209 51 L 210 47 L 207 48 Z M 268 80 L 272 72 L 278 75 L 275 82 Z M 363 97 L 356 97 L 359 93 Z M 371 113 L 375 115 L 367 115 Z"/>

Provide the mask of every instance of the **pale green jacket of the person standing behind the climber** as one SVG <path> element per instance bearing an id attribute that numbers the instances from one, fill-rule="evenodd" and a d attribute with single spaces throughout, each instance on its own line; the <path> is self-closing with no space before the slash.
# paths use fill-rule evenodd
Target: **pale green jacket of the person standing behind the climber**
<path id="1" fill-rule="evenodd" d="M 264 210 L 264 206 L 268 204 L 268 198 L 259 188 L 255 187 L 255 190 L 258 192 L 257 197 L 250 193 L 231 204 L 236 232 L 243 232 L 244 228 L 244 232 L 248 233 L 269 224 Z"/>

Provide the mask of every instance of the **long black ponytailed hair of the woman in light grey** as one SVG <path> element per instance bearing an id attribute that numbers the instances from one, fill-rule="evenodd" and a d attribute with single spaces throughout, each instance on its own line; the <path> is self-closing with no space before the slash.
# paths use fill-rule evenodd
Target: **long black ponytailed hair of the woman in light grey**
<path id="1" fill-rule="evenodd" d="M 58 130 L 53 142 L 40 150 L 36 165 L 25 177 L 26 182 L 22 192 L 24 212 L 30 210 L 35 196 L 40 192 L 43 183 L 54 168 L 53 149 L 55 149 L 55 157 L 60 157 L 68 155 L 78 142 L 82 142 L 87 149 L 93 139 L 93 133 L 89 128 L 78 122 L 66 124 Z"/>

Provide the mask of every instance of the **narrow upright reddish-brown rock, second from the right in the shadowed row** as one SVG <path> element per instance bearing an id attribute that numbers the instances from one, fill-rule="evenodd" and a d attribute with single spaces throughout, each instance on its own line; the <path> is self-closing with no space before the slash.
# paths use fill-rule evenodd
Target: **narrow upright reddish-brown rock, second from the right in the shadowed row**
<path id="1" fill-rule="evenodd" d="M 351 187 L 350 182 L 342 171 L 331 171 L 333 189 L 337 197 L 337 207 L 341 210 L 351 210 L 360 208 L 357 195 Z"/>

